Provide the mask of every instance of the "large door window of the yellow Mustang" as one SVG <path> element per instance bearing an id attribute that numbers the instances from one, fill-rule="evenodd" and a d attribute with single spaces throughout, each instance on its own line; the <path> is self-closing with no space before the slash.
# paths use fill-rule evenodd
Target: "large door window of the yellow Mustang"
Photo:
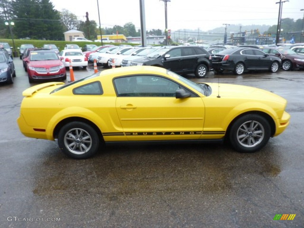
<path id="1" fill-rule="evenodd" d="M 174 81 L 154 75 L 114 79 L 118 97 L 175 97 L 179 87 Z"/>

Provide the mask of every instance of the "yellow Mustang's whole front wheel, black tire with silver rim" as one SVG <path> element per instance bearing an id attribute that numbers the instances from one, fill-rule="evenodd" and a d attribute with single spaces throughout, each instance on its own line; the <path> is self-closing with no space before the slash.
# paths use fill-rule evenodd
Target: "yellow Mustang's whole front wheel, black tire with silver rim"
<path id="1" fill-rule="evenodd" d="M 266 145 L 270 134 L 270 124 L 263 116 L 248 114 L 233 123 L 229 139 L 235 150 L 242 153 L 252 153 Z"/>

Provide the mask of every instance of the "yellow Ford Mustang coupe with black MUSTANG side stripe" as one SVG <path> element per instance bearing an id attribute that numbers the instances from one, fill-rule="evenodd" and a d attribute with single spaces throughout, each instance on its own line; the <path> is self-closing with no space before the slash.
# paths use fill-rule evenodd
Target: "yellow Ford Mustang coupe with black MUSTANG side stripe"
<path id="1" fill-rule="evenodd" d="M 58 140 L 73 158 L 92 157 L 119 142 L 228 139 L 240 152 L 260 150 L 282 133 L 286 100 L 258 88 L 194 83 L 160 67 L 109 69 L 64 85 L 49 82 L 23 91 L 20 131 Z"/>

